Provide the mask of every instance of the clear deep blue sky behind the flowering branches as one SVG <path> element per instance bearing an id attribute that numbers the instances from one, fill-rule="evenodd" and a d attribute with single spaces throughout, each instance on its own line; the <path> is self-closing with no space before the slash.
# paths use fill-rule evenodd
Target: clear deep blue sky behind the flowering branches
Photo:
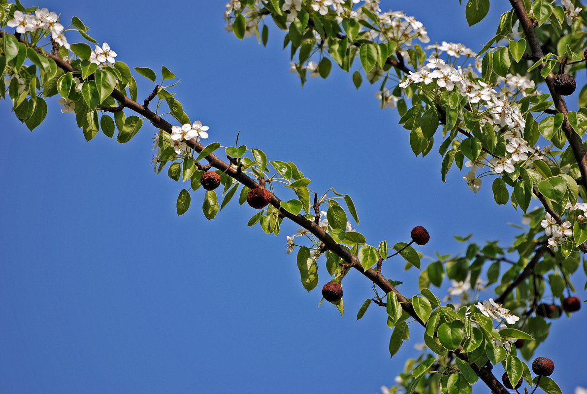
<path id="1" fill-rule="evenodd" d="M 416 16 L 433 42 L 476 50 L 504 11 L 494 3 L 472 29 L 457 1 L 387 1 L 382 9 Z M 181 79 L 174 91 L 184 110 L 210 126 L 210 142 L 231 146 L 241 130 L 239 142 L 269 160 L 294 161 L 316 190 L 350 194 L 368 243 L 409 241 L 411 228 L 424 225 L 431 241 L 418 250 L 434 255 L 463 251 L 455 234 L 507 245 L 519 232 L 507 224 L 519 224 L 519 214 L 496 206 L 489 185 L 474 195 L 456 169 L 441 181 L 437 147 L 424 160 L 414 157 L 397 112 L 379 109 L 376 86 L 356 90 L 333 68 L 301 89 L 283 33 L 272 28 L 266 48 L 239 41 L 224 29 L 224 2 L 38 5 L 63 21 L 79 16 L 131 68 L 158 73 L 166 65 Z M 136 78 L 146 97 L 151 82 Z M 0 102 L 0 392 L 375 393 L 417 354 L 414 327 L 414 339 L 389 358 L 383 308 L 355 321 L 372 297 L 356 272 L 345 278 L 342 318 L 332 305 L 316 308 L 328 274 L 321 267 L 318 288 L 303 289 L 295 254 L 285 254 L 294 225 L 284 222 L 278 237 L 248 228 L 255 211 L 237 200 L 208 221 L 200 191 L 178 217 L 185 186 L 153 174 L 149 124 L 127 144 L 103 134 L 86 143 L 75 118 L 50 101 L 32 133 Z M 403 267 L 397 260 L 383 271 L 410 296 L 417 272 Z M 581 289 L 585 275 L 573 282 Z M 584 310 L 555 321 L 536 353 L 555 361 L 551 377 L 564 392 L 587 386 L 572 373 L 585 360 L 585 324 Z"/>

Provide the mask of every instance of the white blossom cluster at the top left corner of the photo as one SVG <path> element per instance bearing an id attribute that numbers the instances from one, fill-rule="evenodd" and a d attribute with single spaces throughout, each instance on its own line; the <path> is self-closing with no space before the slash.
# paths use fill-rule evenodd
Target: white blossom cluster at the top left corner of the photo
<path id="1" fill-rule="evenodd" d="M 58 22 L 58 16 L 55 12 L 49 12 L 46 8 L 35 11 L 35 14 L 24 14 L 22 11 L 15 11 L 14 18 L 9 20 L 6 25 L 10 28 L 16 28 L 17 33 L 34 32 L 42 29 L 51 33 L 51 39 L 60 46 L 69 49 L 69 43 L 63 35 L 63 25 Z"/>

